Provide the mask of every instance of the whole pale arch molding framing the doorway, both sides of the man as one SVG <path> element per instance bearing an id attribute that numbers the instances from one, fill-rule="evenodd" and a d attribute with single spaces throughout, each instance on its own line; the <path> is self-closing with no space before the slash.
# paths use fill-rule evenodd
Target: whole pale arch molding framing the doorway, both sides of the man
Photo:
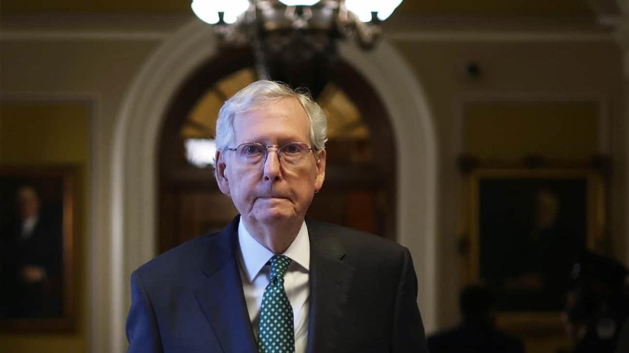
<path id="1" fill-rule="evenodd" d="M 129 277 L 155 256 L 157 151 L 170 99 L 186 78 L 216 54 L 211 28 L 192 20 L 150 56 L 125 94 L 116 117 L 111 155 L 111 238 L 108 256 L 94 264 L 92 294 L 106 306 L 106 317 L 91 318 L 92 349 L 107 342 L 125 350 Z M 415 259 L 419 303 L 428 330 L 436 321 L 437 142 L 427 99 L 415 73 L 386 41 L 370 53 L 343 44 L 340 55 L 374 89 L 392 119 L 398 147 L 398 240 Z M 211 181 L 208 181 L 211 182 Z M 95 294 L 97 293 L 97 294 Z M 105 316 L 103 314 L 103 316 Z M 103 324 L 103 322 L 105 324 Z M 103 345 L 101 345 L 103 347 Z"/>

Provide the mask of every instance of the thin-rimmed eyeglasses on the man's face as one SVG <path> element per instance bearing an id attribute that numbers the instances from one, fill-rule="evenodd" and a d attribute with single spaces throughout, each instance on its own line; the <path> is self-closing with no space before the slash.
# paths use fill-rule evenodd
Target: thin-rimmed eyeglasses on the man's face
<path id="1" fill-rule="evenodd" d="M 308 147 L 306 143 L 289 142 L 282 146 L 265 146 L 260 143 L 242 143 L 235 148 L 226 147 L 225 150 L 236 152 L 236 160 L 243 165 L 256 165 L 267 160 L 269 148 L 277 148 L 277 158 L 284 167 L 296 169 L 303 167 L 308 160 L 310 151 L 314 148 Z"/>

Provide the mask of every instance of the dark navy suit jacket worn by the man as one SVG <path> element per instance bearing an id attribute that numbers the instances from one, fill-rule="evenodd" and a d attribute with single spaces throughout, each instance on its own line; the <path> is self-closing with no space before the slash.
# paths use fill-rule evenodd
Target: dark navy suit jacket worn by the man
<path id="1" fill-rule="evenodd" d="M 257 352 L 237 261 L 239 217 L 131 275 L 129 352 Z M 408 250 L 306 220 L 308 352 L 428 352 Z"/>

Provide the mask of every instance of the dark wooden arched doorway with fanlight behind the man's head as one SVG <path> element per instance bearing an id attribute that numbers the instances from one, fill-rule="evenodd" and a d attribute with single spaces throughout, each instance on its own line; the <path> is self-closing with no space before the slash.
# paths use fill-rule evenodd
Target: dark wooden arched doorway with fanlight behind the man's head
<path id="1" fill-rule="evenodd" d="M 214 137 L 223 102 L 257 80 L 253 65 L 249 50 L 225 50 L 174 95 L 159 141 L 159 252 L 220 230 L 237 214 L 218 190 L 209 161 L 190 154 L 197 151 L 194 143 Z M 328 163 L 308 216 L 394 240 L 396 146 L 381 99 L 341 60 L 318 101 L 328 116 Z"/>

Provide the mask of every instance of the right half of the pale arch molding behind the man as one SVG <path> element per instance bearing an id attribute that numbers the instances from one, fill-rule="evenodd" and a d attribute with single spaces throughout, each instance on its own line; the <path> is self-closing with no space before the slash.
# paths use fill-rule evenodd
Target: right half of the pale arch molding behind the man
<path id="1" fill-rule="evenodd" d="M 428 99 L 415 73 L 386 40 L 364 52 L 347 44 L 340 55 L 384 103 L 398 151 L 398 242 L 413 255 L 418 304 L 426 330 L 437 323 L 437 133 Z"/>

